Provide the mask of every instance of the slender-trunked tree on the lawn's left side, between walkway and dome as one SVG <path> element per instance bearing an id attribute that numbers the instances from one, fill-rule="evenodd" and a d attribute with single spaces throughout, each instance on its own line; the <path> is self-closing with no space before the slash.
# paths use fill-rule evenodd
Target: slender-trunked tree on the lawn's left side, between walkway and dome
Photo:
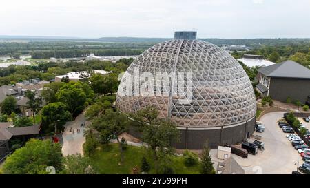
<path id="1" fill-rule="evenodd" d="M 113 112 L 112 109 L 105 110 L 105 113 L 102 114 L 99 118 L 95 118 L 92 121 L 92 127 L 97 131 L 104 131 L 107 135 L 114 135 L 116 137 L 119 152 L 121 154 L 121 164 L 123 164 L 123 143 L 118 138 L 120 134 L 125 132 L 127 129 L 127 116 L 121 112 Z"/>

